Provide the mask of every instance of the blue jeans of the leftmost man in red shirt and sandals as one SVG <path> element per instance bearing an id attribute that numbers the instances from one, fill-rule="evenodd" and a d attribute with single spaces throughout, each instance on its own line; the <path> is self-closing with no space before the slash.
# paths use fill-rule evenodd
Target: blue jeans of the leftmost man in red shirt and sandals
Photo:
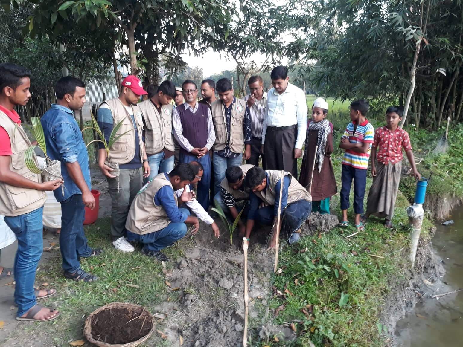
<path id="1" fill-rule="evenodd" d="M 16 315 L 24 315 L 37 304 L 34 294 L 35 271 L 44 249 L 42 216 L 44 208 L 16 217 L 5 217 L 5 223 L 18 239 L 18 250 L 14 258 L 14 302 L 18 305 Z"/>

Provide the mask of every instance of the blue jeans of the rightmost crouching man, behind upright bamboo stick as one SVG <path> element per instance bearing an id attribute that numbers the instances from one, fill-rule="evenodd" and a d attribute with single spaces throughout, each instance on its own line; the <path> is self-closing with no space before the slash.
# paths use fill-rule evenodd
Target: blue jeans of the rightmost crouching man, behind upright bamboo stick
<path id="1" fill-rule="evenodd" d="M 309 217 L 312 211 L 312 203 L 307 200 L 299 200 L 288 204 L 282 216 L 282 235 L 289 237 L 294 231 L 300 228 L 302 223 Z M 274 206 L 261 207 L 258 210 L 255 222 L 272 225 L 275 218 Z"/>

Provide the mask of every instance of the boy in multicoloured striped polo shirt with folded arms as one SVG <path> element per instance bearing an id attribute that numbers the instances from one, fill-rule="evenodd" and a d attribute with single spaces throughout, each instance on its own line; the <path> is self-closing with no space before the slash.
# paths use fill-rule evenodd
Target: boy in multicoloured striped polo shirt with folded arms
<path id="1" fill-rule="evenodd" d="M 343 210 L 340 226 L 348 226 L 347 209 L 350 207 L 349 195 L 352 180 L 354 180 L 354 212 L 355 227 L 363 230 L 360 216 L 363 214 L 363 197 L 367 182 L 368 160 L 371 144 L 375 136 L 375 128 L 369 123 L 366 114 L 369 109 L 368 101 L 363 99 L 350 104 L 350 120 L 352 121 L 344 130 L 339 148 L 344 149 L 343 168 L 341 174 L 341 210 Z"/>

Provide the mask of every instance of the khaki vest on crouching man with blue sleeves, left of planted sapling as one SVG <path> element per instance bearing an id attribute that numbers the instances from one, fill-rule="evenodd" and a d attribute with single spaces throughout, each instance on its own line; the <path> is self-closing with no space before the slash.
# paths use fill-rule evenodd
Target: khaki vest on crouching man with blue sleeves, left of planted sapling
<path id="1" fill-rule="evenodd" d="M 170 220 L 163 206 L 154 204 L 154 196 L 163 186 L 172 188 L 172 194 L 174 194 L 177 203 L 174 187 L 172 187 L 165 174 L 158 174 L 144 185 L 133 200 L 125 222 L 125 229 L 134 234 L 144 235 L 161 230 L 169 225 Z"/>

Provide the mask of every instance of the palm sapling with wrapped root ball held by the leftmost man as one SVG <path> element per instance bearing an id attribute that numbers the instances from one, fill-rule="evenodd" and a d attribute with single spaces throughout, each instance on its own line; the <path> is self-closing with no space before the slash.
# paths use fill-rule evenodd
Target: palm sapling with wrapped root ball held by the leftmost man
<path id="1" fill-rule="evenodd" d="M 31 123 L 32 136 L 36 139 L 38 145 L 31 146 L 24 152 L 24 160 L 27 168 L 31 170 L 31 172 L 34 174 L 42 174 L 42 179 L 44 181 L 63 179 L 63 176 L 61 175 L 61 162 L 58 160 L 51 160 L 50 157 L 47 155 L 44 128 L 42 128 L 40 118 L 31 118 Z M 45 154 L 45 162 L 43 168 L 38 165 L 37 156 L 35 154 L 36 148 L 41 149 Z"/>

